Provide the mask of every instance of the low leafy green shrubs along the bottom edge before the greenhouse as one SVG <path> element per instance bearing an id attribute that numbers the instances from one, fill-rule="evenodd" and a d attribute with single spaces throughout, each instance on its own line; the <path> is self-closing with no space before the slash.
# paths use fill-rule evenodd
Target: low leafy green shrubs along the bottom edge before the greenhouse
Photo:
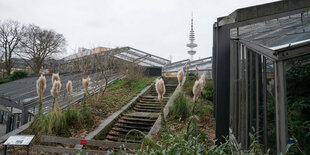
<path id="1" fill-rule="evenodd" d="M 225 143 L 216 145 L 215 141 L 202 135 L 168 135 L 163 139 L 154 142 L 148 142 L 150 146 L 144 146 L 143 150 L 139 150 L 138 154 L 236 154 L 236 155 L 252 155 L 252 154 L 269 154 L 265 153 L 264 148 L 260 145 L 255 136 L 251 136 L 252 144 L 247 149 L 241 149 L 234 137 L 227 139 Z"/>

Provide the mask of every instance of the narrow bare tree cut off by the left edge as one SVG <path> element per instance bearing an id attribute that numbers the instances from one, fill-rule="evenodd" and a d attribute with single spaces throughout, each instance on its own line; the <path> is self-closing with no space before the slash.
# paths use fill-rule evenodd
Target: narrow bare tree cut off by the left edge
<path id="1" fill-rule="evenodd" d="M 7 75 L 11 74 L 12 56 L 14 53 L 17 54 L 21 40 L 21 30 L 22 27 L 17 21 L 8 20 L 0 25 L 0 50 L 4 57 L 4 68 Z"/>

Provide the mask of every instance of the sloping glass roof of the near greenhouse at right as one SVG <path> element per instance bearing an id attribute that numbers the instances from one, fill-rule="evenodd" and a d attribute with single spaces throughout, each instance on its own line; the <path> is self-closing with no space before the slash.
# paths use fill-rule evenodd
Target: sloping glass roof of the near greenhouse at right
<path id="1" fill-rule="evenodd" d="M 310 41 L 310 15 L 309 12 L 298 13 L 234 28 L 230 36 L 276 53 L 277 50 Z"/>

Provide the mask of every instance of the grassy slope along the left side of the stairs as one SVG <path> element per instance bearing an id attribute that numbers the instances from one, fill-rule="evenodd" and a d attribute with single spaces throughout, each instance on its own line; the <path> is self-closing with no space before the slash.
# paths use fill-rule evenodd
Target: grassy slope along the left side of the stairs
<path id="1" fill-rule="evenodd" d="M 124 78 L 114 81 L 104 92 L 93 95 L 87 99 L 87 104 L 95 117 L 92 128 L 73 129 L 72 137 L 81 138 L 94 130 L 101 122 L 127 104 L 142 89 L 149 85 L 155 78 L 143 77 L 140 79 Z M 81 108 L 81 104 L 76 105 Z"/>

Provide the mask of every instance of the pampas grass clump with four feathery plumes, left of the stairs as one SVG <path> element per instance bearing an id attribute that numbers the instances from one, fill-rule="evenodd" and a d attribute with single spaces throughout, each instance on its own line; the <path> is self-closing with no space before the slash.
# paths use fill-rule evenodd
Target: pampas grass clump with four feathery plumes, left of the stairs
<path id="1" fill-rule="evenodd" d="M 41 79 L 41 80 L 40 80 Z M 38 80 L 37 88 L 38 95 L 42 96 L 42 90 L 44 90 L 44 80 L 42 76 Z M 54 103 L 52 107 L 52 112 L 48 115 L 39 114 L 35 116 L 34 121 L 31 123 L 28 132 L 30 134 L 36 135 L 36 141 L 40 139 L 42 135 L 55 135 L 55 136 L 71 136 L 70 129 L 77 128 L 80 126 L 87 126 L 90 128 L 94 123 L 94 118 L 87 107 L 86 97 L 87 97 L 87 88 L 85 88 L 83 106 L 81 110 L 78 110 L 74 107 L 68 106 L 67 110 L 60 111 L 57 104 L 57 97 L 61 89 L 61 83 L 59 81 L 59 75 L 53 74 L 52 78 L 53 87 L 51 89 L 51 95 L 54 97 Z M 89 82 L 89 80 L 86 80 Z M 85 82 L 85 81 L 84 81 Z M 88 87 L 88 83 L 84 86 Z M 70 95 L 72 92 L 72 82 L 69 81 L 67 84 L 67 91 Z M 70 105 L 70 99 L 68 99 L 68 104 Z M 81 124 L 82 123 L 82 124 Z"/>

